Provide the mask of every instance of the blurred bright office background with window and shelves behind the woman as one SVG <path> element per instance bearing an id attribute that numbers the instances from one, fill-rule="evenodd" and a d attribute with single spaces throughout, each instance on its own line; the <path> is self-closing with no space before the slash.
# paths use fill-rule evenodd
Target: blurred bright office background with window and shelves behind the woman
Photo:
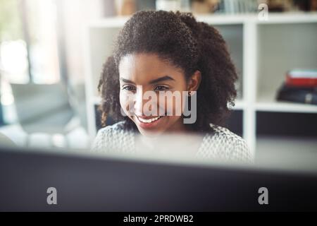
<path id="1" fill-rule="evenodd" d="M 191 11 L 220 30 L 239 73 L 227 127 L 252 150 L 317 152 L 316 0 L 0 0 L 0 133 L 16 145 L 88 148 L 101 66 L 145 9 Z"/>

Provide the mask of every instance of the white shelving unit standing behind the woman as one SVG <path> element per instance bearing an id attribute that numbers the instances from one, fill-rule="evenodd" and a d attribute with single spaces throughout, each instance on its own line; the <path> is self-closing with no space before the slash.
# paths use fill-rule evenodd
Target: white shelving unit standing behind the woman
<path id="1" fill-rule="evenodd" d="M 255 14 L 195 16 L 218 28 L 228 43 L 239 73 L 234 109 L 243 112 L 243 137 L 252 151 L 261 149 L 256 112 L 317 113 L 317 106 L 275 101 L 287 70 L 317 68 L 317 13 L 270 13 L 264 21 Z M 87 117 L 92 138 L 97 132 L 94 105 L 100 101 L 97 84 L 101 68 L 127 20 L 97 20 L 85 30 Z"/>

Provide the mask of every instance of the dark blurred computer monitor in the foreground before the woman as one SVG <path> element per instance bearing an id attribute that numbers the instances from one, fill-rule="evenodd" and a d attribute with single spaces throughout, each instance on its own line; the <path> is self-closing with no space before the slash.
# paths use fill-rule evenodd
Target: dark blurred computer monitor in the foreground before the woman
<path id="1" fill-rule="evenodd" d="M 0 191 L 1 211 L 317 210 L 313 171 L 66 150 L 0 148 Z"/>

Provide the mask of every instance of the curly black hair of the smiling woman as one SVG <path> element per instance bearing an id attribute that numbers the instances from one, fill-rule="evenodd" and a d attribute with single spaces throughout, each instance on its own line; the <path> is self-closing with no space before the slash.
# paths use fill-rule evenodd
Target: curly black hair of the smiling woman
<path id="1" fill-rule="evenodd" d="M 192 131 L 210 131 L 210 123 L 223 126 L 237 95 L 237 71 L 227 45 L 216 28 L 197 22 L 192 13 L 180 11 L 138 11 L 125 23 L 114 43 L 113 55 L 104 64 L 98 90 L 101 95 L 101 124 L 106 117 L 125 120 L 120 114 L 120 59 L 126 54 L 154 53 L 184 71 L 186 79 L 201 72 L 197 90 L 197 121 Z"/>

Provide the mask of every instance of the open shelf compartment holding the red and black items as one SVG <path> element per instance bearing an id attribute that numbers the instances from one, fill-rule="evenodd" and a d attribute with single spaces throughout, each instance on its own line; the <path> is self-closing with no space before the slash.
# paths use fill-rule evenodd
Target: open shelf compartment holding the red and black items
<path id="1" fill-rule="evenodd" d="M 306 105 L 288 105 L 287 102 L 277 105 L 275 96 L 290 69 L 317 69 L 317 20 L 315 22 L 258 25 L 256 99 L 260 103 L 273 103 L 260 104 L 259 108 L 314 111 Z"/>

